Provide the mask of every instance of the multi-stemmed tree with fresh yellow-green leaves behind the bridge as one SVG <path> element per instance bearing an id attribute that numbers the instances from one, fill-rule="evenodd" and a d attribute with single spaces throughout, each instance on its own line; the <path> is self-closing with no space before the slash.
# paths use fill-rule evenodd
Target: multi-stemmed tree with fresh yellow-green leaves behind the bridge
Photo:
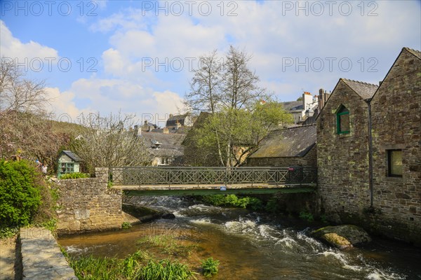
<path id="1" fill-rule="evenodd" d="M 269 132 L 291 122 L 292 117 L 278 102 L 258 102 L 250 109 L 214 113 L 196 130 L 196 139 L 205 150 L 218 150 L 221 166 L 236 167 L 260 147 Z"/>

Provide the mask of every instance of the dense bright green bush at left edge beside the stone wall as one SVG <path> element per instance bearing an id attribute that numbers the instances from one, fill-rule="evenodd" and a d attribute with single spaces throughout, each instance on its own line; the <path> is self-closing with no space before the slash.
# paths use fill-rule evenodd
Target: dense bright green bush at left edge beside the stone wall
<path id="1" fill-rule="evenodd" d="M 20 227 L 32 223 L 41 205 L 44 181 L 32 162 L 0 161 L 0 225 Z"/>

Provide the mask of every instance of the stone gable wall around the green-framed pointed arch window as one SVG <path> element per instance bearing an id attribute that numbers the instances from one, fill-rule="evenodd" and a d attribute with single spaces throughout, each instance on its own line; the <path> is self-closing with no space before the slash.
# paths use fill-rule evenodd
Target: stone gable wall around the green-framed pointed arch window
<path id="1" fill-rule="evenodd" d="M 336 113 L 349 110 L 350 133 L 338 134 Z M 368 105 L 343 80 L 317 122 L 318 188 L 326 214 L 361 212 L 370 206 Z"/>

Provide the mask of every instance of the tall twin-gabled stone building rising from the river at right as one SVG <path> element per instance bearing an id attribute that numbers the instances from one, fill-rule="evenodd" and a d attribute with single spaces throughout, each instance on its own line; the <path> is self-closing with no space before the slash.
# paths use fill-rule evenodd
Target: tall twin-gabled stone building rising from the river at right
<path id="1" fill-rule="evenodd" d="M 317 118 L 318 184 L 326 214 L 417 244 L 420 57 L 403 48 L 380 87 L 341 78 Z"/>

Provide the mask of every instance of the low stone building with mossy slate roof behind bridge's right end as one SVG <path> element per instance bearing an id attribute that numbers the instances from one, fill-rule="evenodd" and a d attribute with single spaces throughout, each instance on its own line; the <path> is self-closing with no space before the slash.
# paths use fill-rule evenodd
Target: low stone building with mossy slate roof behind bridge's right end
<path id="1" fill-rule="evenodd" d="M 248 166 L 316 167 L 316 125 L 274 130 L 247 159 Z"/>

